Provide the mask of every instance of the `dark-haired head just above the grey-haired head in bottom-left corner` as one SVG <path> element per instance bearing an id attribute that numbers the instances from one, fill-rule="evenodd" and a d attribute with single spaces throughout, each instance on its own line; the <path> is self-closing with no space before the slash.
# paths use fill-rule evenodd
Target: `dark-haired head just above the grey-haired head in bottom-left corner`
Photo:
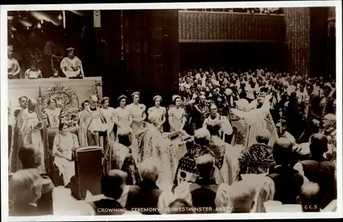
<path id="1" fill-rule="evenodd" d="M 24 169 L 38 167 L 38 152 L 40 151 L 38 151 L 38 149 L 32 144 L 27 144 L 19 149 L 18 157 L 21 164 L 23 164 Z"/>

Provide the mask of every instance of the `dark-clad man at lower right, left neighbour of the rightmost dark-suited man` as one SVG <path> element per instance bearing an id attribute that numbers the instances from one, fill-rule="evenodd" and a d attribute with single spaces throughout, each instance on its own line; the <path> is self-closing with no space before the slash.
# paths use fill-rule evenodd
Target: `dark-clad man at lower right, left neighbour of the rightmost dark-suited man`
<path id="1" fill-rule="evenodd" d="M 294 170 L 294 154 L 292 142 L 286 138 L 279 138 L 273 146 L 273 157 L 276 166 L 267 175 L 274 181 L 274 201 L 283 204 L 296 204 L 299 190 L 304 183 L 304 177 L 298 170 Z"/>

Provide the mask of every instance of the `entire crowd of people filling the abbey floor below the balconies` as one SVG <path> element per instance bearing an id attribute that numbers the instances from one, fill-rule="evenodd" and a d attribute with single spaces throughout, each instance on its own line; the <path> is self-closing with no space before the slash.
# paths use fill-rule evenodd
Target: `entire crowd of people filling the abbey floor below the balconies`
<path id="1" fill-rule="evenodd" d="M 79 146 L 104 150 L 104 198 L 88 201 L 89 214 L 265 212 L 267 201 L 319 212 L 337 198 L 334 78 L 209 68 L 186 71 L 179 88 L 173 104 L 155 96 L 148 109 L 138 91 L 131 104 L 119 96 L 117 108 L 92 95 L 71 118 L 55 100 L 40 111 L 36 100 L 19 98 L 10 146 L 14 214 L 32 210 L 41 189 L 33 178 L 49 176 L 51 162 L 68 188 Z"/>

